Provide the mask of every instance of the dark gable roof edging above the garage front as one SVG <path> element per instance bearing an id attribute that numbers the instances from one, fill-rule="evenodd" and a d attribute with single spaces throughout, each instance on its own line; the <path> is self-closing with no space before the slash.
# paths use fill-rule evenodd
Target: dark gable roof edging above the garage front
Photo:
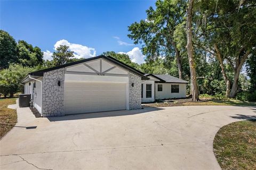
<path id="1" fill-rule="evenodd" d="M 108 60 L 114 64 L 116 64 L 117 66 L 124 68 L 125 70 L 129 70 L 130 72 L 133 72 L 133 74 L 138 75 L 141 77 L 142 80 L 147 80 L 149 79 L 148 77 L 145 76 L 145 74 L 137 69 L 134 69 L 130 66 L 128 66 L 127 64 L 116 60 L 115 58 L 111 57 L 111 56 L 105 56 L 105 55 L 99 55 L 99 56 L 94 56 L 92 58 L 89 59 L 84 59 L 84 60 L 79 60 L 79 61 L 75 61 L 75 62 L 70 62 L 67 64 L 62 64 L 61 66 L 56 66 L 56 67 L 52 67 L 52 68 L 47 68 L 44 70 L 39 70 L 39 71 L 34 71 L 34 72 L 30 72 L 29 75 L 31 76 L 44 76 L 44 72 L 47 71 L 52 71 L 52 70 L 56 70 L 56 69 L 60 69 L 60 68 L 65 68 L 68 66 L 73 66 L 75 64 L 79 64 L 79 63 L 83 63 L 83 62 L 87 62 L 87 61 L 92 61 L 92 60 L 97 60 L 97 59 L 105 59 Z"/>

